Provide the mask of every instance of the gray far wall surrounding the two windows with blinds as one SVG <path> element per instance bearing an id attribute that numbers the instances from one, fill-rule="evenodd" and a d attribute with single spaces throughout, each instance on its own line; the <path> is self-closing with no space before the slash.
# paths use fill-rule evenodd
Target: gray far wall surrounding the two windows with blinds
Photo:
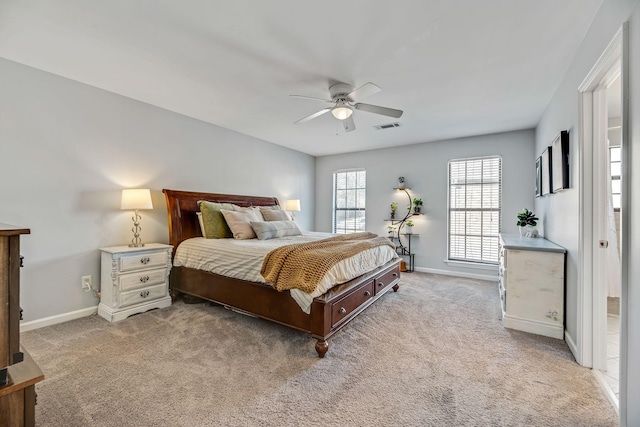
<path id="1" fill-rule="evenodd" d="M 535 186 L 534 132 L 524 130 L 471 138 L 407 145 L 398 148 L 324 156 L 316 161 L 316 229 L 331 231 L 333 171 L 367 170 L 367 231 L 386 234 L 389 204 L 406 206 L 406 195 L 394 191 L 404 176 L 414 197 L 421 197 L 425 215 L 414 217 L 412 251 L 419 269 L 496 276 L 494 271 L 460 268 L 447 258 L 448 161 L 465 157 L 502 156 L 502 231 L 517 233 L 516 215 L 533 208 Z M 497 276 L 496 276 L 497 277 Z"/>

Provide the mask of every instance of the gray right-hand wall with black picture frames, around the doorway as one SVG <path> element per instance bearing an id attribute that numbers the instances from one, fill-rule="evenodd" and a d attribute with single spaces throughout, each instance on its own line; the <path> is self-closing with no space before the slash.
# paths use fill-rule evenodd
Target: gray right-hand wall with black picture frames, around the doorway
<path id="1" fill-rule="evenodd" d="M 626 153 L 630 156 L 631 181 L 630 209 L 628 215 L 632 218 L 629 242 L 628 268 L 628 298 L 626 299 L 628 313 L 628 349 L 622 354 L 622 360 L 628 362 L 626 372 L 627 393 L 621 397 L 621 421 L 623 425 L 640 425 L 640 231 L 636 218 L 640 212 L 640 174 L 633 171 L 640 170 L 640 9 L 637 0 L 605 0 L 585 36 L 564 80 L 558 87 L 546 112 L 536 130 L 536 153 L 542 152 L 549 145 L 555 135 L 562 130 L 571 132 L 570 165 L 571 189 L 554 194 L 551 197 L 538 199 L 537 212 L 546 220 L 545 233 L 554 242 L 568 250 L 567 260 L 567 331 L 574 338 L 578 338 L 577 300 L 578 262 L 579 262 L 579 233 L 578 215 L 583 207 L 579 205 L 578 186 L 578 153 L 581 144 L 578 86 L 596 64 L 600 55 L 613 39 L 615 33 L 624 21 L 629 21 L 630 28 L 630 149 Z M 624 308 L 623 308 L 624 310 Z M 624 382 L 625 368 L 622 367 Z"/>

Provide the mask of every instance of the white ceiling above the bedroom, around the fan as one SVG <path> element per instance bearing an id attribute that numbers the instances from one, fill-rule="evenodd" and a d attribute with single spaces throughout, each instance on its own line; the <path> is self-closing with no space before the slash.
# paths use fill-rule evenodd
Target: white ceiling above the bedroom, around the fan
<path id="1" fill-rule="evenodd" d="M 312 155 L 534 127 L 602 0 L 0 2 L 0 57 Z M 382 92 L 345 133 L 331 82 Z"/>

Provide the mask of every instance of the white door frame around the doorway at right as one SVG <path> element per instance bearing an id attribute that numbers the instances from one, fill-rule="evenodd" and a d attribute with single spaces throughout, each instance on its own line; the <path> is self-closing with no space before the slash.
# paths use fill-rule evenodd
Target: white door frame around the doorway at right
<path id="1" fill-rule="evenodd" d="M 579 168 L 579 268 L 578 268 L 578 342 L 576 343 L 576 360 L 579 364 L 597 369 L 606 368 L 606 351 L 602 351 L 606 343 L 606 292 L 602 286 L 596 286 L 602 268 L 600 259 L 604 251 L 598 248 L 599 214 L 597 202 L 601 198 L 601 188 L 594 185 L 596 176 L 596 160 L 598 148 L 599 120 L 596 115 L 603 113 L 602 90 L 616 73 L 616 66 L 622 85 L 622 198 L 621 198 L 621 297 L 620 297 L 620 421 L 626 420 L 626 349 L 627 349 L 627 295 L 628 295 L 628 241 L 629 230 L 629 24 L 624 22 L 612 41 L 602 53 L 591 71 L 578 87 L 579 92 L 579 132 L 578 168 Z M 618 65 L 617 65 L 618 64 Z M 606 113 L 606 106 L 604 106 Z M 600 193 L 598 191 L 600 190 Z M 594 196 L 595 194 L 595 196 Z M 600 252 L 598 252 L 600 251 Z M 604 358 L 604 360 L 603 360 Z M 622 423 L 622 425 L 625 425 Z"/>

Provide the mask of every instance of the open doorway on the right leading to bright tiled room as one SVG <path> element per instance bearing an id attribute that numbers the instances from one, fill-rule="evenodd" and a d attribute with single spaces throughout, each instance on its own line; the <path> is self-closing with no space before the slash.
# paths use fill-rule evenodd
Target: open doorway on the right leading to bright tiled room
<path id="1" fill-rule="evenodd" d="M 616 408 L 624 402 L 620 397 L 626 389 L 625 379 L 620 378 L 625 363 L 620 355 L 626 346 L 627 34 L 624 24 L 579 88 L 582 209 L 576 359 L 594 368 Z M 620 409 L 622 413 L 625 408 Z"/>

